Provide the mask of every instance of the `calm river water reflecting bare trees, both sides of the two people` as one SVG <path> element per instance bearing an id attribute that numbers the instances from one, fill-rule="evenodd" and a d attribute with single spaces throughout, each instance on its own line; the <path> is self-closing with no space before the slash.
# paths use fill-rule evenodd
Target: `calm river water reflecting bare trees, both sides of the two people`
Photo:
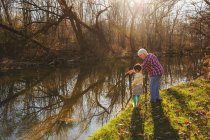
<path id="1" fill-rule="evenodd" d="M 162 88 L 191 80 L 199 59 L 161 57 Z M 85 139 L 125 107 L 139 60 L 83 63 L 78 67 L 0 73 L 0 138 Z"/>

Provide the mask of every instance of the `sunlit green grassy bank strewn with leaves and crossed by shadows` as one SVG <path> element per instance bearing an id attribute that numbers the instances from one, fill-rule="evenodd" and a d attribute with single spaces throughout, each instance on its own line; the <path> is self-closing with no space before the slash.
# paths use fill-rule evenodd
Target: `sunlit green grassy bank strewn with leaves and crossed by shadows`
<path id="1" fill-rule="evenodd" d="M 210 138 L 210 81 L 195 80 L 161 91 L 162 103 L 131 105 L 91 140 Z M 149 97 L 147 97 L 149 98 Z"/>

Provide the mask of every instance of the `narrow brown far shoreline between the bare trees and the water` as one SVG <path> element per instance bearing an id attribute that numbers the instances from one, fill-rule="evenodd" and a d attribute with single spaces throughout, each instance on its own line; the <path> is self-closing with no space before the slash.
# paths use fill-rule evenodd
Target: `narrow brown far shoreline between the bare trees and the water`
<path id="1" fill-rule="evenodd" d="M 180 54 L 180 53 L 157 53 L 157 56 L 192 56 L 193 54 L 203 54 L 203 53 L 209 53 L 210 52 L 190 52 L 186 54 Z M 100 60 L 110 60 L 110 59 L 132 59 L 135 56 L 135 53 L 127 53 L 124 55 L 115 55 L 114 57 L 106 57 L 101 58 Z M 205 57 L 205 56 L 204 56 Z M 34 61 L 34 60 L 16 60 L 16 59 L 9 59 L 9 58 L 2 58 L 0 60 L 0 71 L 5 70 L 19 70 L 19 69 L 25 69 L 25 68 L 34 68 L 34 67 L 40 67 L 40 66 L 46 66 L 46 67 L 55 67 L 55 66 L 62 66 L 62 65 L 76 65 L 77 63 L 83 63 L 87 61 L 98 61 L 98 58 L 94 57 L 88 57 L 88 58 L 82 58 L 82 57 L 76 57 L 72 59 L 63 59 L 63 58 L 55 58 L 53 60 L 46 60 L 46 61 Z"/>

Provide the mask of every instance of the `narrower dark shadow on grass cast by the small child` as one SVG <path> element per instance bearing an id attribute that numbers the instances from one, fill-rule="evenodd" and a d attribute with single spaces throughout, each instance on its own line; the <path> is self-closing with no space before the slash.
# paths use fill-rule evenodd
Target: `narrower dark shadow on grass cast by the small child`
<path id="1" fill-rule="evenodd" d="M 130 126 L 132 140 L 143 140 L 144 139 L 144 124 L 143 119 L 140 116 L 139 107 L 135 107 L 131 116 Z"/>

